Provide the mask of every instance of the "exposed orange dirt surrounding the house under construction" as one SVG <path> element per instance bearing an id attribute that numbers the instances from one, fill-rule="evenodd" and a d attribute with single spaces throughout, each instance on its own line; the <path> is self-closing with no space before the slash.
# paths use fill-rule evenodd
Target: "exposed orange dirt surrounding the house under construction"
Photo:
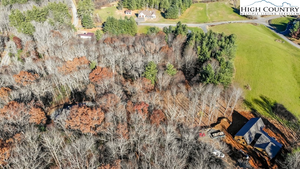
<path id="1" fill-rule="evenodd" d="M 244 145 L 236 142 L 233 139 L 234 135 L 244 126 L 244 124 L 250 118 L 253 117 L 255 117 L 255 115 L 249 111 L 234 111 L 232 117 L 222 119 L 220 123 L 217 124 L 214 128 L 219 129 L 220 131 L 223 131 L 225 133 L 226 138 L 224 139 L 224 141 L 229 144 L 230 148 L 232 149 L 232 160 L 235 160 L 237 162 L 238 158 L 242 158 L 241 154 L 237 152 L 238 150 L 242 149 L 250 156 L 249 163 L 254 168 L 278 168 L 277 164 L 275 164 L 275 160 L 282 159 L 283 153 L 291 151 L 291 148 L 287 147 L 297 141 L 293 139 L 295 132 L 290 128 L 284 126 L 277 120 L 261 117 L 265 124 L 264 131 L 266 131 L 269 136 L 275 137 L 276 140 L 283 145 L 283 147 L 281 148 L 281 152 L 279 152 L 275 158 L 269 161 L 268 158 L 264 155 L 254 151 L 249 147 L 245 147 Z"/>

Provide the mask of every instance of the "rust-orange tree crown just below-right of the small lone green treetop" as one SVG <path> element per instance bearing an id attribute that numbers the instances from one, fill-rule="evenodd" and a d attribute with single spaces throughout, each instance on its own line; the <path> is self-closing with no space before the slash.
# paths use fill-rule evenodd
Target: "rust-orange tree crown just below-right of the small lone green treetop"
<path id="1" fill-rule="evenodd" d="M 113 72 L 111 72 L 108 68 L 97 66 L 96 69 L 94 69 L 90 73 L 88 78 L 90 79 L 91 82 L 97 83 L 98 81 L 104 78 L 111 78 L 111 77 L 113 77 Z"/>

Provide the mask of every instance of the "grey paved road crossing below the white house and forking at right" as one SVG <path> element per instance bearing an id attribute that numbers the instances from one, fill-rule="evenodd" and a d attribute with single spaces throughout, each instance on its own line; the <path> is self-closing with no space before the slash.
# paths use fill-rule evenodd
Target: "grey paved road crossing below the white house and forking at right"
<path id="1" fill-rule="evenodd" d="M 226 23 L 259 23 L 262 25 L 265 25 L 269 29 L 271 29 L 273 32 L 275 32 L 278 36 L 283 38 L 286 42 L 290 43 L 291 45 L 295 46 L 296 48 L 300 49 L 300 46 L 295 44 L 294 42 L 290 41 L 288 38 L 286 38 L 284 35 L 286 34 L 286 31 L 284 32 L 279 32 L 276 29 L 274 29 L 271 25 L 268 24 L 269 20 L 279 18 L 279 17 L 284 17 L 283 15 L 275 15 L 271 17 L 260 17 L 258 16 L 258 19 L 255 20 L 233 20 L 233 21 L 222 21 L 222 22 L 210 22 L 210 23 L 184 23 L 187 24 L 187 26 L 192 26 L 192 27 L 200 27 L 205 33 L 207 32 L 207 28 L 212 25 L 221 25 L 221 24 L 226 24 Z M 163 28 L 164 26 L 176 26 L 176 24 L 168 24 L 168 23 L 139 23 L 139 25 L 146 25 L 146 26 L 158 26 L 160 28 Z"/>

